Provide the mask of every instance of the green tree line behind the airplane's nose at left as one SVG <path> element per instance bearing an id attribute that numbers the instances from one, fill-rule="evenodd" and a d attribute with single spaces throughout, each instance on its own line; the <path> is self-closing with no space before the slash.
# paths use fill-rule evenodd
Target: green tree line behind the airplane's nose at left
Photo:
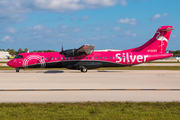
<path id="1" fill-rule="evenodd" d="M 14 49 L 0 49 L 0 51 L 5 51 L 5 52 L 9 52 L 10 55 L 15 56 L 18 55 L 20 53 L 27 53 L 29 52 L 28 48 L 25 48 L 24 50 L 22 48 L 19 48 L 18 51 L 14 50 Z M 54 50 L 34 50 L 34 51 L 30 51 L 30 52 L 57 52 Z"/>

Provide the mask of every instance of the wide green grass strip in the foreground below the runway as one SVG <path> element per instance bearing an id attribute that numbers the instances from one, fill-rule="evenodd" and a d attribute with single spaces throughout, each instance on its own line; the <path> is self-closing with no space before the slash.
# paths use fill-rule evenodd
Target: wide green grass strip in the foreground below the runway
<path id="1" fill-rule="evenodd" d="M 1 120 L 179 120 L 180 102 L 1 103 Z"/>

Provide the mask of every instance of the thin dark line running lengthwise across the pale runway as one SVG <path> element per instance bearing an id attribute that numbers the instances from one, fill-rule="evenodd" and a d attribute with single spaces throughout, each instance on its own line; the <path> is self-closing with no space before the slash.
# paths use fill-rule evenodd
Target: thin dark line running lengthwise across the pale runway
<path id="1" fill-rule="evenodd" d="M 180 91 L 180 89 L 0 89 L 0 91 Z"/>

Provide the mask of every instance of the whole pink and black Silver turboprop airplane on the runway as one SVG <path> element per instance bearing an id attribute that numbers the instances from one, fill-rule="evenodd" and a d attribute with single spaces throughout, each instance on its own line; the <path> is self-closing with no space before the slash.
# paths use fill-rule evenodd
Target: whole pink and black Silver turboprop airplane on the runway
<path id="1" fill-rule="evenodd" d="M 30 52 L 18 54 L 7 65 L 16 69 L 68 68 L 87 72 L 99 67 L 125 67 L 173 56 L 165 53 L 173 26 L 161 26 L 155 35 L 140 47 L 127 50 L 95 51 L 93 45 L 61 52 Z"/>

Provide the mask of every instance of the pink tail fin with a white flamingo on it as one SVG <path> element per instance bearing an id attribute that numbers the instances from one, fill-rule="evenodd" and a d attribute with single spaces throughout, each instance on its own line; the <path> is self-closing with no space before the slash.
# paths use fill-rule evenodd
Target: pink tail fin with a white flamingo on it
<path id="1" fill-rule="evenodd" d="M 165 53 L 173 26 L 161 26 L 156 31 L 153 38 L 147 41 L 144 45 L 135 48 L 134 52 L 155 52 Z"/>

